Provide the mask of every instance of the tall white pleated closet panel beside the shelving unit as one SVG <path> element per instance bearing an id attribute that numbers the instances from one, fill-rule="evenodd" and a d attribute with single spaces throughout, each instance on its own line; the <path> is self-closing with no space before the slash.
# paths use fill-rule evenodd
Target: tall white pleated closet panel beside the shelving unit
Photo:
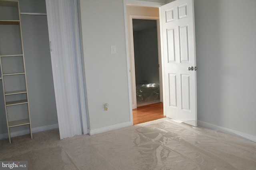
<path id="1" fill-rule="evenodd" d="M 60 139 L 88 133 L 77 0 L 46 0 Z"/>

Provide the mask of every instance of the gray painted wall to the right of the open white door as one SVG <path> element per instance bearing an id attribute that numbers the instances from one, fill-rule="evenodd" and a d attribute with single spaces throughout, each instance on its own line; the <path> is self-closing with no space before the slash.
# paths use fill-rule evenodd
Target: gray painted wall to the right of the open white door
<path id="1" fill-rule="evenodd" d="M 194 0 L 198 120 L 254 136 L 255 8 L 255 0 Z"/>

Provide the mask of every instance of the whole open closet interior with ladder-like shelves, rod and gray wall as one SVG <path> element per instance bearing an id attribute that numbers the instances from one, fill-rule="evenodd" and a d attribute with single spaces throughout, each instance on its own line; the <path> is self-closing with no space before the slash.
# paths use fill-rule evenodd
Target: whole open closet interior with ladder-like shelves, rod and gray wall
<path id="1" fill-rule="evenodd" d="M 0 20 L 0 139 L 57 129 L 45 0 L 0 0 Z"/>

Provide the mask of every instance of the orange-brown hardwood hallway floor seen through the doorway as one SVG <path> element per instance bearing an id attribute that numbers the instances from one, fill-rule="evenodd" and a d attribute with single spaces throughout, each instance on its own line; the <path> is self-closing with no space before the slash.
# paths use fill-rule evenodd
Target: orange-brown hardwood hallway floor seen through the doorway
<path id="1" fill-rule="evenodd" d="M 137 107 L 132 110 L 133 125 L 164 118 L 163 103 L 155 103 Z"/>

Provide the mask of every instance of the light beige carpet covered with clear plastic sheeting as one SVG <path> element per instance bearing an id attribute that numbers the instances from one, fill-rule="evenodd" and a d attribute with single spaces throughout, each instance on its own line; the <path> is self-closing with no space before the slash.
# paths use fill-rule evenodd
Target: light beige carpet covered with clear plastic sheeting
<path id="1" fill-rule="evenodd" d="M 0 160 L 29 170 L 255 170 L 256 143 L 163 118 L 59 140 L 58 129 L 0 141 Z"/>

